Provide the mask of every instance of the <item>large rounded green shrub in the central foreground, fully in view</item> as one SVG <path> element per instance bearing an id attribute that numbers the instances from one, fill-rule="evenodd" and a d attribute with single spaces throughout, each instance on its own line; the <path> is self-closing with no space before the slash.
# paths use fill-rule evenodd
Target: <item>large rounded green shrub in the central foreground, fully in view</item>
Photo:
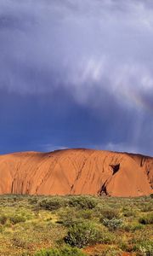
<path id="1" fill-rule="evenodd" d="M 65 242 L 72 247 L 82 248 L 99 241 L 100 231 L 94 224 L 89 222 L 73 224 L 70 227 L 67 236 L 65 236 Z"/>

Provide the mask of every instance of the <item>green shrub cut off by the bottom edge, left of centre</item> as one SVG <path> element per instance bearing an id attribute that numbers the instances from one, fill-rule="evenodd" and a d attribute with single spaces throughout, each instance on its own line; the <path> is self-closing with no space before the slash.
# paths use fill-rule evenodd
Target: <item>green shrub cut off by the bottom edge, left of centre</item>
<path id="1" fill-rule="evenodd" d="M 42 249 L 35 253 L 34 256 L 85 256 L 81 250 L 73 247 L 63 247 L 61 249 Z"/>

